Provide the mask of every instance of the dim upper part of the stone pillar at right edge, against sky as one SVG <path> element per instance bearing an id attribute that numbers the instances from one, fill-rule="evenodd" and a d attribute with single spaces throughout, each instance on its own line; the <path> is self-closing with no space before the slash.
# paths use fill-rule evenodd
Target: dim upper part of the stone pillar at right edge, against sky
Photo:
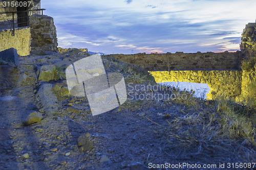
<path id="1" fill-rule="evenodd" d="M 256 56 L 256 23 L 248 23 L 243 30 L 241 52 L 247 57 Z"/>

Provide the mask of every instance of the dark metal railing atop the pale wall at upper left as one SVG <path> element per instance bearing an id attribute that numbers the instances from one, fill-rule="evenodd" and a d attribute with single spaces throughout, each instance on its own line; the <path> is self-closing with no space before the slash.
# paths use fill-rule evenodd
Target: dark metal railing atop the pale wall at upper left
<path id="1" fill-rule="evenodd" d="M 10 30 L 12 31 L 12 36 L 15 36 L 15 28 L 18 27 L 29 27 L 29 17 L 33 14 L 36 14 L 35 11 L 41 11 L 41 15 L 43 15 L 43 12 L 46 9 L 34 9 L 34 10 L 26 10 L 26 11 L 14 11 L 14 12 L 1 12 L 1 14 L 12 14 L 12 18 L 6 18 L 6 19 L 0 19 L 0 23 L 2 23 L 3 29 L 8 27 L 8 25 L 11 27 Z M 30 12 L 30 14 L 28 14 Z M 14 17 L 14 14 L 17 14 L 17 17 Z M 25 16 L 18 16 L 24 14 Z M 15 23 L 16 21 L 16 23 Z M 1 24 L 0 24 L 1 27 Z"/>

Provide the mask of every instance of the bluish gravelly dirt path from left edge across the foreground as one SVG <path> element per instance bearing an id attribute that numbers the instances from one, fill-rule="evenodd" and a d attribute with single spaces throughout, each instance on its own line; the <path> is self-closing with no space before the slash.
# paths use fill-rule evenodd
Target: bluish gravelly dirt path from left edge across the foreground
<path id="1" fill-rule="evenodd" d="M 29 85 L 17 85 L 18 77 L 13 75 L 8 79 L 11 88 L 1 93 L 3 169 L 130 169 L 131 164 L 159 156 L 161 152 L 156 147 L 159 144 L 150 128 L 152 123 L 136 111 L 124 109 L 92 116 L 85 99 L 63 101 L 59 114 L 44 114 L 41 122 L 23 126 L 26 116 L 40 108 L 34 93 L 37 87 L 33 63 L 38 58 L 41 57 L 20 59 L 19 72 L 33 78 Z M 69 113 L 70 105 L 65 104 L 73 105 L 81 114 Z M 86 133 L 91 135 L 94 149 L 79 152 L 77 139 Z M 25 158 L 26 154 L 29 158 Z"/>

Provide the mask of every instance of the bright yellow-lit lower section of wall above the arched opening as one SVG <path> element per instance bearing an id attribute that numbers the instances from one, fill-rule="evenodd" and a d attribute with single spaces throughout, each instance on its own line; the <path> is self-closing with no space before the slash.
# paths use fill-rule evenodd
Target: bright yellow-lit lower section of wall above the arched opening
<path id="1" fill-rule="evenodd" d="M 217 95 L 234 98 L 241 94 L 242 71 L 148 71 L 157 83 L 161 82 L 192 82 L 206 83 L 210 87 L 207 100 L 215 99 Z"/>

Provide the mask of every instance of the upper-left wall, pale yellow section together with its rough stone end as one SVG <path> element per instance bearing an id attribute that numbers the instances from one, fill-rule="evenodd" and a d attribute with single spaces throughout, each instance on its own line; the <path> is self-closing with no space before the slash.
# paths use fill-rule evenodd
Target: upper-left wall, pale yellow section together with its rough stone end
<path id="1" fill-rule="evenodd" d="M 57 34 L 53 18 L 47 15 L 32 15 L 30 27 L 0 31 L 0 51 L 16 48 L 18 55 L 45 55 L 57 52 Z"/>

